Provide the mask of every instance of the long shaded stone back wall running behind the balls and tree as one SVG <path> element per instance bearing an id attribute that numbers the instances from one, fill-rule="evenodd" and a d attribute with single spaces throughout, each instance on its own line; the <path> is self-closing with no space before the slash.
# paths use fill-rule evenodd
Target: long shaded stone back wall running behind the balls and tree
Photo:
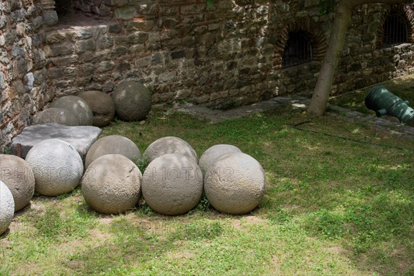
<path id="1" fill-rule="evenodd" d="M 288 93 L 308 95 L 315 87 L 333 22 L 332 13 L 319 14 L 318 3 L 216 0 L 208 6 L 205 0 L 58 0 L 59 23 L 44 27 L 46 34 L 36 23 L 37 28 L 26 34 L 32 41 L 42 38 L 25 50 L 28 62 L 32 57 L 36 65 L 25 71 L 34 76 L 34 88 L 26 93 L 34 101 L 29 114 L 63 95 L 85 90 L 110 93 L 125 79 L 146 83 L 154 103 L 190 101 L 228 108 Z M 412 6 L 373 4 L 353 12 L 333 93 L 413 72 L 412 43 L 379 46 L 382 24 L 391 10 L 404 13 L 414 28 Z M 36 11 L 36 16 L 23 19 L 29 26 L 41 15 L 39 7 Z M 10 17 L 10 12 L 3 14 Z M 7 28 L 7 32 L 18 30 L 10 23 Z M 1 30 L 6 32 L 6 27 Z M 282 68 L 288 33 L 297 30 L 311 39 L 313 61 Z M 19 39 L 12 43 L 18 45 Z M 13 59 L 17 62 L 17 57 Z M 7 87 L 19 79 L 24 87 L 25 74 L 9 75 L 3 83 Z M 22 98 L 19 103 L 23 104 Z M 3 122 L 13 118 L 15 124 L 25 124 L 16 108 L 6 109 L 11 115 Z M 8 141 L 10 135 L 2 145 Z"/>

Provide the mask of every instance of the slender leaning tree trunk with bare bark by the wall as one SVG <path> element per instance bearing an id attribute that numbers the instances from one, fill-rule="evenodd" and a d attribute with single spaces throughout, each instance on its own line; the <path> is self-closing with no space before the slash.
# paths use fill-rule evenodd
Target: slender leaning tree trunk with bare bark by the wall
<path id="1" fill-rule="evenodd" d="M 355 6 L 366 3 L 405 3 L 407 0 L 342 0 L 337 6 L 335 20 L 329 37 L 328 49 L 322 62 L 321 70 L 317 78 L 315 91 L 313 92 L 308 113 L 311 115 L 322 116 L 328 104 L 329 95 L 339 58 L 344 49 L 346 30 L 351 22 L 351 12 Z"/>

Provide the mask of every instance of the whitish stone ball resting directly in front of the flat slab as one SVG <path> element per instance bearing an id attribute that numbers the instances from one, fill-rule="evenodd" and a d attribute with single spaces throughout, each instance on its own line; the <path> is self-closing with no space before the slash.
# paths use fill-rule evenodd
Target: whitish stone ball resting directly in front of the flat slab
<path id="1" fill-rule="evenodd" d="M 46 139 L 34 145 L 26 155 L 32 167 L 34 190 L 56 196 L 75 189 L 83 174 L 83 162 L 77 150 L 60 139 Z"/>

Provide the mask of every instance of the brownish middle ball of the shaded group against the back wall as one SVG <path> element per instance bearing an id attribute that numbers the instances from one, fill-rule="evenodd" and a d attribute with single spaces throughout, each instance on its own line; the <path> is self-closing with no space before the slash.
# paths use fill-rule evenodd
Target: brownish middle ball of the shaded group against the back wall
<path id="1" fill-rule="evenodd" d="M 92 108 L 92 126 L 102 128 L 108 126 L 115 116 L 115 105 L 110 95 L 96 90 L 90 90 L 78 95 Z"/>

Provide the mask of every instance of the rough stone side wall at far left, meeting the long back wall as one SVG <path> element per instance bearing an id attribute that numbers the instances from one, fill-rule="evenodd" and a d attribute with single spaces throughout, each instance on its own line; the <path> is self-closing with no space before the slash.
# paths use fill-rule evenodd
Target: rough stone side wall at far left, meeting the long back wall
<path id="1" fill-rule="evenodd" d="M 0 150 L 54 95 L 46 86 L 42 9 L 33 1 L 0 2 Z"/>

